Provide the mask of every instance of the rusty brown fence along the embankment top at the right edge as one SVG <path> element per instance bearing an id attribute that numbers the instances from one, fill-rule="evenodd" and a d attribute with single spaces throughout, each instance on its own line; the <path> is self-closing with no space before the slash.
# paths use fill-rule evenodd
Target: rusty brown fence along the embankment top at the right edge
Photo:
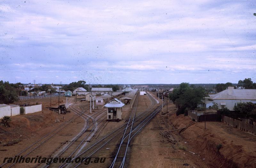
<path id="1" fill-rule="evenodd" d="M 222 122 L 224 122 L 227 125 L 233 126 L 234 128 L 238 128 L 242 131 L 245 132 L 249 132 L 251 134 L 255 134 L 256 135 L 256 126 L 243 122 L 243 121 L 239 121 L 227 116 L 222 115 Z"/>

